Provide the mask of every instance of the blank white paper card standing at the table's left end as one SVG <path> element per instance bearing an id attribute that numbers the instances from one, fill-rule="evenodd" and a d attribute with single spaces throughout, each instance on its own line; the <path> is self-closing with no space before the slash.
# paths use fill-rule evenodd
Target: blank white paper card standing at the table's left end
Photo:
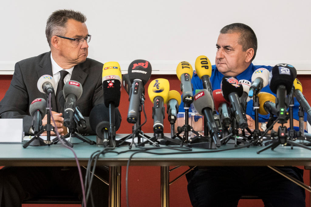
<path id="1" fill-rule="evenodd" d="M 0 119 L 0 142 L 22 142 L 23 119 Z"/>

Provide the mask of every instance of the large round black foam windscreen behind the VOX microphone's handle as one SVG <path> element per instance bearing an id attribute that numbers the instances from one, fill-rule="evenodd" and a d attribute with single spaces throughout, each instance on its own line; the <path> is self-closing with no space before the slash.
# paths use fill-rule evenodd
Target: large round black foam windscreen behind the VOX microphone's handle
<path id="1" fill-rule="evenodd" d="M 120 127 L 121 121 L 119 121 L 120 112 L 117 108 L 114 109 L 114 124 L 116 130 Z M 89 116 L 91 129 L 96 132 L 96 127 L 100 122 L 106 121 L 109 123 L 109 108 L 105 104 L 97 104 L 93 107 Z"/>

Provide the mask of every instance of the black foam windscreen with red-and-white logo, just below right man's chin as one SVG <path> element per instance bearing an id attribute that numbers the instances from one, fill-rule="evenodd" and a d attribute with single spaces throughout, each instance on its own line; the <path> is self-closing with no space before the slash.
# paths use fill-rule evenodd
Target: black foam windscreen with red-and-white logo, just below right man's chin
<path id="1" fill-rule="evenodd" d="M 239 80 L 232 76 L 224 76 L 221 80 L 220 89 L 226 101 L 229 101 L 229 94 L 235 92 L 239 97 L 243 94 L 243 86 Z"/>

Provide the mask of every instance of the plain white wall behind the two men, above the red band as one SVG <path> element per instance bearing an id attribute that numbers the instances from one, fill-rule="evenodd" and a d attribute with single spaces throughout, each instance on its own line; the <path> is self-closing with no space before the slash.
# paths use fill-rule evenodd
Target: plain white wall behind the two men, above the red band
<path id="1" fill-rule="evenodd" d="M 135 59 L 150 61 L 155 74 L 174 74 L 180 61 L 194 64 L 199 55 L 214 63 L 219 30 L 242 22 L 257 34 L 254 64 L 289 63 L 311 74 L 310 0 L 1 0 L 0 74 L 12 74 L 15 62 L 49 51 L 45 23 L 63 8 L 86 15 L 89 57 L 118 61 L 124 72 Z"/>

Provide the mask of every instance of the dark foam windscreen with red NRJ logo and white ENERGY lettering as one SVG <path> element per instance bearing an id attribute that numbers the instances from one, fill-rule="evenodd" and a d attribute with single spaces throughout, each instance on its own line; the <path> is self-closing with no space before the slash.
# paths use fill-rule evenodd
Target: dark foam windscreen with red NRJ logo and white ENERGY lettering
<path id="1" fill-rule="evenodd" d="M 128 77 L 133 83 L 133 80 L 142 80 L 145 85 L 151 77 L 151 64 L 145 60 L 135 60 L 128 66 Z"/>

